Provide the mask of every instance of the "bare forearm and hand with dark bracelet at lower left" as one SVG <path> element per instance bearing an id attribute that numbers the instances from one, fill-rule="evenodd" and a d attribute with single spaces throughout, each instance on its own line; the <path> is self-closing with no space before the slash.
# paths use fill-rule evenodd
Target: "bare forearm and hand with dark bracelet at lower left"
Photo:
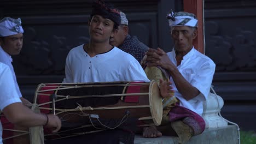
<path id="1" fill-rule="evenodd" d="M 61 128 L 59 117 L 34 113 L 26 106 L 22 105 L 22 103 L 13 103 L 4 107 L 3 113 L 11 123 L 22 127 L 36 127 L 46 124 L 45 126 L 53 129 L 53 132 Z"/>

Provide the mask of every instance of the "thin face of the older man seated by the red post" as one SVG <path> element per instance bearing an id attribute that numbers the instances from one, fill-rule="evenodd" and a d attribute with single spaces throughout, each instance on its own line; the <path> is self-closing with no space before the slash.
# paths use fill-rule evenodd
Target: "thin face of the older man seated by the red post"
<path id="1" fill-rule="evenodd" d="M 193 39 L 197 36 L 197 30 L 188 26 L 171 27 L 171 35 L 174 49 L 178 52 L 189 52 L 193 47 Z"/>

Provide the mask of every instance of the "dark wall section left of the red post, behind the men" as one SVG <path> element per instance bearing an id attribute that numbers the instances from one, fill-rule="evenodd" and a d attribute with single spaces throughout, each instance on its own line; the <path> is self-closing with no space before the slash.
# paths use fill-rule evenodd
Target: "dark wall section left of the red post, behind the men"
<path id="1" fill-rule="evenodd" d="M 179 1 L 109 1 L 129 19 L 130 34 L 146 45 L 167 49 L 167 11 L 182 8 Z M 1 0 L 2 17 L 21 17 L 24 46 L 13 56 L 15 73 L 24 97 L 32 100 L 39 83 L 62 82 L 67 53 L 88 43 L 88 20 L 92 1 L 15 1 Z"/>

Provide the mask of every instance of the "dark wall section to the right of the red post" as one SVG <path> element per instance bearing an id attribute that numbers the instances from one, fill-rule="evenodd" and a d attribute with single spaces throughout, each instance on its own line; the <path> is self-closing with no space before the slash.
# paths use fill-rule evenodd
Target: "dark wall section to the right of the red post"
<path id="1" fill-rule="evenodd" d="M 222 115 L 256 130 L 256 1 L 205 0 L 206 55 L 217 65 L 213 85 Z"/>

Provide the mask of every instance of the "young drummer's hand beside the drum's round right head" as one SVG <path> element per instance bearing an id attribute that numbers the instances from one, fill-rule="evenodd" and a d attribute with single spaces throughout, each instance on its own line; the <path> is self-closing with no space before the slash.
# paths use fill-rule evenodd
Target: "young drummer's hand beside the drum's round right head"
<path id="1" fill-rule="evenodd" d="M 159 88 L 162 98 L 173 96 L 174 91 L 172 90 L 173 88 L 171 84 L 172 83 L 170 81 L 164 81 L 160 79 Z"/>

